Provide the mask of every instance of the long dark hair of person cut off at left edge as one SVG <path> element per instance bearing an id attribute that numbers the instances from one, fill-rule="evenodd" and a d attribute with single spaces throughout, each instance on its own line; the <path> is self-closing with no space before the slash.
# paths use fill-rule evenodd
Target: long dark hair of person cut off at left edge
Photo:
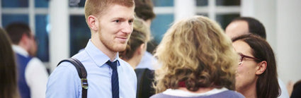
<path id="1" fill-rule="evenodd" d="M 0 28 L 0 98 L 19 97 L 14 56 L 11 39 Z"/>

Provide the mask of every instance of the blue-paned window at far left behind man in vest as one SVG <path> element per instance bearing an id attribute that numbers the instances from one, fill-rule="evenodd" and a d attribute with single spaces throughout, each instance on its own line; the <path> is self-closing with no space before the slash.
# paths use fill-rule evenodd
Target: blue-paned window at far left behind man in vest
<path id="1" fill-rule="evenodd" d="M 2 0 L 2 27 L 14 22 L 27 23 L 38 41 L 37 57 L 49 61 L 47 0 Z"/>

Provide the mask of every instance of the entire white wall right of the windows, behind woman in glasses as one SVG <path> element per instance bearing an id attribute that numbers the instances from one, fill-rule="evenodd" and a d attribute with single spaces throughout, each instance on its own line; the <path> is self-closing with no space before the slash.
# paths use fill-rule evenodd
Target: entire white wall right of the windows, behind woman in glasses
<path id="1" fill-rule="evenodd" d="M 266 27 L 278 76 L 285 84 L 301 80 L 301 1 L 242 0 L 242 16 L 257 18 Z"/>

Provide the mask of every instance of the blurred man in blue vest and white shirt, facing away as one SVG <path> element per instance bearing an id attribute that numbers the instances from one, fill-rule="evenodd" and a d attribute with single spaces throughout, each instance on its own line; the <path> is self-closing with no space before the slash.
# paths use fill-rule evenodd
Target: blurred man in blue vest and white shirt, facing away
<path id="1" fill-rule="evenodd" d="M 36 44 L 33 32 L 24 23 L 11 23 L 6 26 L 13 51 L 16 53 L 18 68 L 18 89 L 23 98 L 45 97 L 48 73 L 35 55 Z"/>

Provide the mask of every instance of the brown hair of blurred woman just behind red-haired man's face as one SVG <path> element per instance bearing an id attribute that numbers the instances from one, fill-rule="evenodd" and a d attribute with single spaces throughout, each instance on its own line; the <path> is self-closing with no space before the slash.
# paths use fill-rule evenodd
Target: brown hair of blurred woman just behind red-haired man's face
<path id="1" fill-rule="evenodd" d="M 127 42 L 125 51 L 119 52 L 121 59 L 131 59 L 135 51 L 141 44 L 146 44 L 149 41 L 150 30 L 149 27 L 140 18 L 136 18 L 133 22 L 134 29 Z"/>

